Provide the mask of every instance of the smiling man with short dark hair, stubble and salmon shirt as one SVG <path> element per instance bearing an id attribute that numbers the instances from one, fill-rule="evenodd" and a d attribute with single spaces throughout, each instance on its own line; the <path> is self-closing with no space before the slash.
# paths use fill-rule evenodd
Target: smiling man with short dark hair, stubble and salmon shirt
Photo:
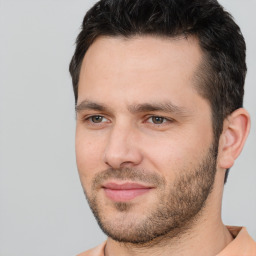
<path id="1" fill-rule="evenodd" d="M 250 127 L 245 43 L 214 0 L 102 0 L 70 63 L 78 171 L 108 239 L 83 255 L 256 255 L 226 227 Z"/>

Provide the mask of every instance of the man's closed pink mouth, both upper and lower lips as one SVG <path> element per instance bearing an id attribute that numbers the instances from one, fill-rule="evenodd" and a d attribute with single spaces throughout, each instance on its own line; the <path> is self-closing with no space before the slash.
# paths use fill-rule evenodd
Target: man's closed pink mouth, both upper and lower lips
<path id="1" fill-rule="evenodd" d="M 148 193 L 153 187 L 139 183 L 115 183 L 110 182 L 102 186 L 105 195 L 115 202 L 127 202 L 135 199 L 145 193 Z"/>

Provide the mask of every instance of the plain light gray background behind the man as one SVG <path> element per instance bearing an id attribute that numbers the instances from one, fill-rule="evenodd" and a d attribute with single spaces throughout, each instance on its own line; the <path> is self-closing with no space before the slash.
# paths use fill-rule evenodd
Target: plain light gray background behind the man
<path id="1" fill-rule="evenodd" d="M 0 0 L 0 256 L 68 256 L 99 244 L 74 153 L 68 64 L 88 0 Z M 222 0 L 248 47 L 247 144 L 225 186 L 223 219 L 256 239 L 255 0 Z"/>

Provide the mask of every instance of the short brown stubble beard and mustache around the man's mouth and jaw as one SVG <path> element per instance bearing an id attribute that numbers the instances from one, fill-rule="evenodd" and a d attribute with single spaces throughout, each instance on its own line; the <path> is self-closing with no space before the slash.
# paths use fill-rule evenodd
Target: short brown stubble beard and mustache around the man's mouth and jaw
<path id="1" fill-rule="evenodd" d="M 108 169 L 95 177 L 91 194 L 89 196 L 85 193 L 86 198 L 102 231 L 115 241 L 146 245 L 164 238 L 177 237 L 186 232 L 200 216 L 213 188 L 216 159 L 217 148 L 212 145 L 193 170 L 187 168 L 178 172 L 180 175 L 168 192 L 166 181 L 159 174 L 128 168 Z M 109 178 L 154 184 L 159 188 L 157 204 L 143 218 L 138 218 L 132 213 L 132 203 L 115 202 L 113 207 L 119 218 L 106 216 L 101 202 L 97 199 L 97 187 Z"/>

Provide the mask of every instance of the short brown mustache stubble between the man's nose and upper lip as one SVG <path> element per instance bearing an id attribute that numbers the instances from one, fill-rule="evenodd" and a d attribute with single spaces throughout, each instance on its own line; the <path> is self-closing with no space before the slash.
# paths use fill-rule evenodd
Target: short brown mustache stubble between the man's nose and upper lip
<path id="1" fill-rule="evenodd" d="M 94 177 L 92 181 L 93 189 L 100 188 L 102 183 L 109 179 L 115 179 L 120 181 L 129 180 L 132 182 L 143 182 L 153 186 L 161 186 L 165 185 L 166 183 L 165 179 L 162 176 L 152 171 L 138 170 L 134 168 L 108 168 L 98 173 Z"/>

